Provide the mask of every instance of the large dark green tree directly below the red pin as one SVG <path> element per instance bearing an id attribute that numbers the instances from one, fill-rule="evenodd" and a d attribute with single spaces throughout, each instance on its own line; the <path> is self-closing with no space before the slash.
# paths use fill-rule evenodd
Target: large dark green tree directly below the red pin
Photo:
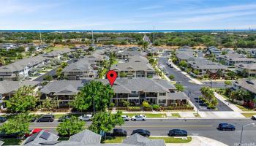
<path id="1" fill-rule="evenodd" d="M 72 106 L 80 111 L 92 109 L 95 104 L 95 110 L 105 111 L 110 104 L 110 99 L 114 96 L 110 85 L 104 85 L 99 81 L 91 81 L 83 86 L 80 92 L 72 101 Z"/>

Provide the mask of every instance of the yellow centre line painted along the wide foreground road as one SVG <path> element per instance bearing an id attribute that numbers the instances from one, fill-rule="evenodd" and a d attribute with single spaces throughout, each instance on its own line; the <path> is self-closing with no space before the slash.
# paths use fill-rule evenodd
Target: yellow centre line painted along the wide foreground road
<path id="1" fill-rule="evenodd" d="M 88 128 L 89 126 L 84 126 L 85 128 Z M 213 126 L 116 126 L 116 127 L 123 127 L 123 128 L 132 128 L 132 127 L 148 127 L 148 128 L 160 128 L 160 127 L 213 127 Z M 40 126 L 31 126 L 29 128 L 57 128 L 57 127 L 40 127 Z"/>

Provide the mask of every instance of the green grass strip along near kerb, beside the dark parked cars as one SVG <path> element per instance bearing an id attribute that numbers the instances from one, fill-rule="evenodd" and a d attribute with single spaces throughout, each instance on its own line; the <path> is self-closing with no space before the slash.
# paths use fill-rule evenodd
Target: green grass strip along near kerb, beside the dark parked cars
<path id="1" fill-rule="evenodd" d="M 121 143 L 126 137 L 116 137 L 114 139 L 105 140 L 105 143 Z M 192 137 L 148 137 L 149 139 L 164 139 L 165 143 L 188 143 L 192 141 Z"/>

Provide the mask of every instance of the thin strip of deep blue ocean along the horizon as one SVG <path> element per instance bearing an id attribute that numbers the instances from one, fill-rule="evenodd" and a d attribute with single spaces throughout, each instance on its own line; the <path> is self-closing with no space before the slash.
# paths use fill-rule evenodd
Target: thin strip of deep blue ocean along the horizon
<path id="1" fill-rule="evenodd" d="M 184 30 L 0 30 L 0 32 L 91 32 L 94 33 L 152 33 L 152 32 L 238 32 L 255 31 L 252 29 L 184 29 Z"/>

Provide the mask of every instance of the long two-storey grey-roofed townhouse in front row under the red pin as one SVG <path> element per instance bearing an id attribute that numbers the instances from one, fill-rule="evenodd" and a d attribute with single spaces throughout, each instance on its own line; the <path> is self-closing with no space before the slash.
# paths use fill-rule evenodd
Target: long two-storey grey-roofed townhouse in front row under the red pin
<path id="1" fill-rule="evenodd" d="M 98 79 L 105 85 L 107 79 Z M 40 100 L 55 98 L 59 107 L 70 107 L 69 102 L 74 99 L 76 93 L 83 88 L 89 80 L 54 80 L 40 90 Z M 129 101 L 133 105 L 140 105 L 143 101 L 162 106 L 187 104 L 189 98 L 183 92 L 176 93 L 176 88 L 167 80 L 148 78 L 118 78 L 113 85 L 115 95 L 110 99 L 116 105 L 122 100 Z"/>

